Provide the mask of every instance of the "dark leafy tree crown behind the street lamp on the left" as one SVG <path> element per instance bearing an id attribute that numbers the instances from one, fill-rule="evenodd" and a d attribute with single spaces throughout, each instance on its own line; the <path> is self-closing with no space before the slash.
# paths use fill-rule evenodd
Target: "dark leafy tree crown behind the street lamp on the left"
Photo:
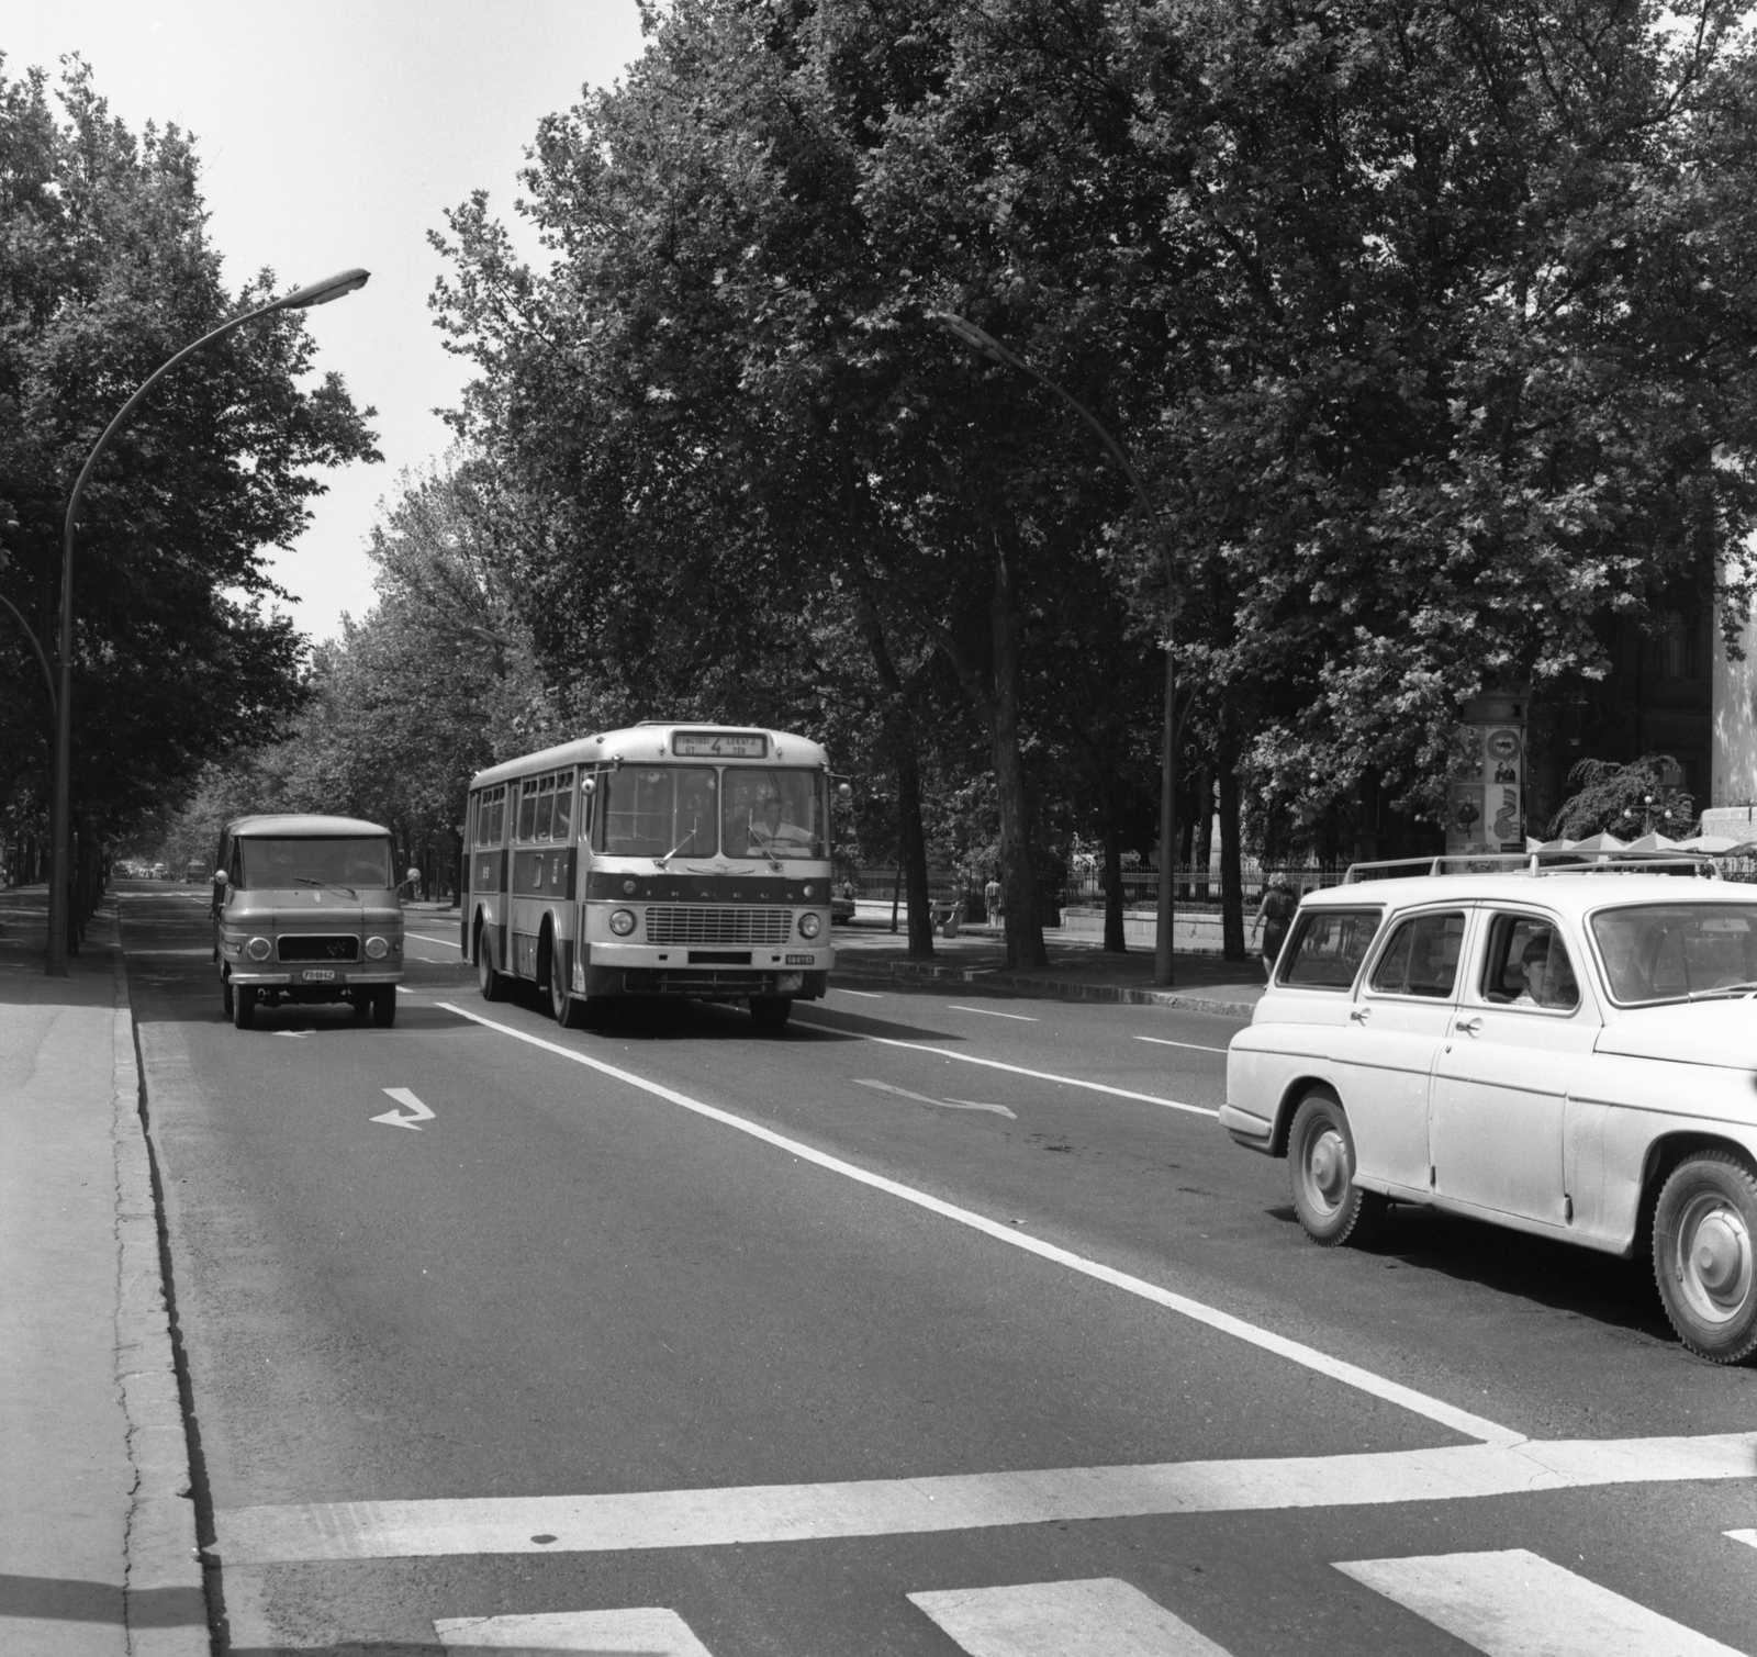
<path id="1" fill-rule="evenodd" d="M 5 596 L 53 650 L 61 520 L 74 478 L 125 397 L 190 339 L 271 297 L 220 281 L 192 141 L 111 118 L 70 60 L 61 118 L 40 70 L 0 76 L 0 522 Z M 112 443 L 77 525 L 77 819 L 116 831 L 188 789 L 202 764 L 271 734 L 297 705 L 302 641 L 264 550 L 290 546 L 323 485 L 372 460 L 341 380 L 300 381 L 299 313 L 181 365 Z M 40 669 L 0 615 L 0 798 L 47 796 Z"/>

